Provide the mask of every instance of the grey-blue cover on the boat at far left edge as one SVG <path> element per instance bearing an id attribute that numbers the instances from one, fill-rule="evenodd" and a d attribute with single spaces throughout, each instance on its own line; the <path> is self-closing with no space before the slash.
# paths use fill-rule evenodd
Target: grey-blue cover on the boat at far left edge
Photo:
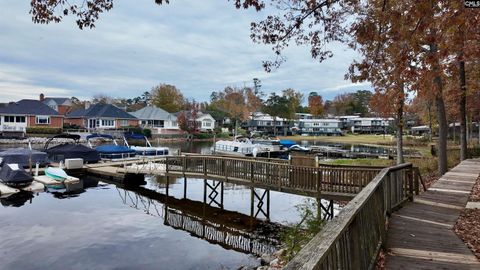
<path id="1" fill-rule="evenodd" d="M 32 166 L 35 166 L 37 162 L 42 167 L 50 164 L 47 153 L 37 150 L 11 148 L 0 152 L 3 163 L 16 163 L 24 168 L 30 165 L 30 155 L 32 156 Z"/>

